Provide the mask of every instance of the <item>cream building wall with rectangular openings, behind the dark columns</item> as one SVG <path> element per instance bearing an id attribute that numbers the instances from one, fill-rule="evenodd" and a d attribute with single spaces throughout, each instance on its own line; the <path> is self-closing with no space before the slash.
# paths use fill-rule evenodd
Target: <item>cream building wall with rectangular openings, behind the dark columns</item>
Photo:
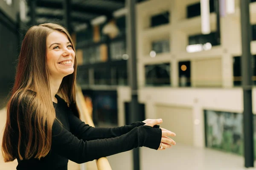
<path id="1" fill-rule="evenodd" d="M 194 146 L 204 147 L 204 109 L 228 112 L 243 112 L 243 93 L 241 88 L 233 87 L 233 57 L 241 56 L 240 9 L 236 2 L 235 14 L 221 17 L 221 45 L 209 51 L 187 53 L 188 36 L 200 34 L 201 17 L 186 19 L 186 6 L 200 0 L 148 0 L 137 5 L 137 70 L 139 101 L 145 103 L 146 118 L 157 119 L 158 105 L 192 108 Z M 171 23 L 149 28 L 149 17 L 161 11 L 170 11 Z M 251 23 L 256 23 L 256 3 L 250 4 Z M 212 13 L 211 30 L 216 29 L 216 15 Z M 170 39 L 170 53 L 149 57 L 150 42 L 166 37 Z M 252 42 L 252 54 L 256 54 L 256 42 Z M 220 59 L 221 69 L 219 88 L 195 88 L 196 68 L 192 67 L 192 87 L 178 88 L 179 61 L 190 60 L 192 65 L 198 60 Z M 210 60 L 209 60 L 210 61 Z M 171 63 L 170 87 L 145 87 L 145 64 Z M 200 65 L 199 65 L 200 67 Z M 219 74 L 218 74 L 219 75 Z M 119 94 L 128 95 L 130 91 L 119 88 Z M 130 95 L 129 95 L 130 96 Z M 119 100 L 119 108 L 122 104 Z M 253 89 L 253 102 L 256 101 L 256 90 Z M 253 113 L 256 113 L 253 105 Z M 122 107 L 121 107 L 122 110 Z M 122 114 L 123 111 L 119 111 Z M 172 115 L 168 119 L 171 119 Z M 169 120 L 163 121 L 169 121 Z M 171 121 L 170 121 L 171 122 Z M 172 129 L 170 129 L 172 130 Z"/>

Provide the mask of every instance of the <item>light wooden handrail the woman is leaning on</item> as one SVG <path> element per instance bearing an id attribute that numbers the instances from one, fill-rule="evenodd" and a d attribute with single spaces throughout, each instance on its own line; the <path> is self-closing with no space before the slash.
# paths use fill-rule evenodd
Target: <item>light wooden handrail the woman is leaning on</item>
<path id="1" fill-rule="evenodd" d="M 77 85 L 76 88 L 76 102 L 80 111 L 81 120 L 84 121 L 86 124 L 95 127 L 92 118 L 90 117 L 90 113 L 85 105 L 84 95 L 82 93 L 81 88 Z M 103 157 L 96 160 L 96 165 L 98 170 L 112 170 L 108 159 Z"/>

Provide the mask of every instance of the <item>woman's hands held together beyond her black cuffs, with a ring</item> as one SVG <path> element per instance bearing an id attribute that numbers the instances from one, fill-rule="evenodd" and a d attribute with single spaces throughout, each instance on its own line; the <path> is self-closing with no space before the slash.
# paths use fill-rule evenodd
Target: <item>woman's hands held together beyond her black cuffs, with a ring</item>
<path id="1" fill-rule="evenodd" d="M 154 125 L 161 124 L 163 120 L 162 119 L 146 119 L 143 122 L 145 123 L 145 125 L 153 127 Z M 175 145 L 176 142 L 173 139 L 169 138 L 168 136 L 176 136 L 176 134 L 162 127 L 160 127 L 160 129 L 162 130 L 162 139 L 161 139 L 161 143 L 158 150 L 165 150 L 166 148 L 170 148 L 172 147 L 172 145 Z"/>

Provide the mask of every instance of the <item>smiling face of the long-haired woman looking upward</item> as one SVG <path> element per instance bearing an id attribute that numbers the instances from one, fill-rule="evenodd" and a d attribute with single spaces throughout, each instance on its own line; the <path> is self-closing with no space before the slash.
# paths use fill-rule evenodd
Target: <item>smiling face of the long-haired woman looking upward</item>
<path id="1" fill-rule="evenodd" d="M 50 77 L 63 78 L 74 72 L 75 51 L 67 35 L 53 31 L 47 36 L 47 68 Z"/>

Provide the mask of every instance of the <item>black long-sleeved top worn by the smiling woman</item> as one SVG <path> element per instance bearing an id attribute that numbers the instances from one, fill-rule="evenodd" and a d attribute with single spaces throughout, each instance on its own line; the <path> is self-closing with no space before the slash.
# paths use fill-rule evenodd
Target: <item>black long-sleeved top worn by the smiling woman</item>
<path id="1" fill-rule="evenodd" d="M 53 105 L 62 125 L 56 120 L 53 123 L 50 152 L 40 160 L 21 161 L 17 156 L 17 170 L 67 170 L 68 160 L 81 164 L 137 147 L 157 150 L 160 145 L 159 128 L 143 126 L 143 122 L 114 128 L 91 127 L 77 118 L 63 99 L 56 98 L 58 103 Z"/>

